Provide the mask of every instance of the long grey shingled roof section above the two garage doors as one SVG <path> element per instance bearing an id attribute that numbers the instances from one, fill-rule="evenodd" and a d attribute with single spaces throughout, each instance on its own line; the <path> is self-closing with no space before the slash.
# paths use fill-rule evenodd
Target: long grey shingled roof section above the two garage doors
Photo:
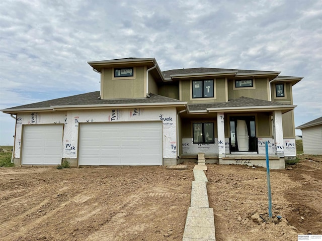
<path id="1" fill-rule="evenodd" d="M 128 98 L 128 99 L 99 99 L 100 91 L 77 94 L 63 98 L 51 99 L 32 104 L 25 104 L 3 109 L 4 113 L 17 113 L 23 111 L 52 111 L 70 108 L 104 108 L 117 106 L 155 106 L 155 105 L 185 105 L 177 99 L 150 94 L 149 98 Z"/>

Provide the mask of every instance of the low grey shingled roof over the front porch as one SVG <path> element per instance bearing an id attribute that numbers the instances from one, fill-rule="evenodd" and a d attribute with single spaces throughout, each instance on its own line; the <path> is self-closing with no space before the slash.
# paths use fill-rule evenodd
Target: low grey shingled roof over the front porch
<path id="1" fill-rule="evenodd" d="M 278 102 L 254 99 L 241 96 L 236 99 L 229 100 L 227 102 L 219 103 L 205 103 L 205 104 L 188 104 L 188 110 L 190 113 L 194 112 L 231 112 L 231 111 L 250 111 L 250 110 L 262 110 L 271 111 L 281 109 L 283 112 L 287 112 L 294 109 L 296 105 L 282 104 Z"/>

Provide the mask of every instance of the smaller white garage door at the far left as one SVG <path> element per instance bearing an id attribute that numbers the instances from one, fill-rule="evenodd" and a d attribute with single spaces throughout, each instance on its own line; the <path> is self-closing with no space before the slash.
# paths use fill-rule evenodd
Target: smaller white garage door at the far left
<path id="1" fill-rule="evenodd" d="M 22 164 L 61 163 L 63 125 L 26 125 L 23 132 Z"/>

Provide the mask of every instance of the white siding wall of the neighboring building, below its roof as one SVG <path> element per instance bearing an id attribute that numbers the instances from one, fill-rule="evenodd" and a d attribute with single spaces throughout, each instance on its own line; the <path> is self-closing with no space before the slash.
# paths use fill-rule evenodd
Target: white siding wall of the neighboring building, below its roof
<path id="1" fill-rule="evenodd" d="M 304 154 L 322 155 L 322 125 L 302 129 Z"/>

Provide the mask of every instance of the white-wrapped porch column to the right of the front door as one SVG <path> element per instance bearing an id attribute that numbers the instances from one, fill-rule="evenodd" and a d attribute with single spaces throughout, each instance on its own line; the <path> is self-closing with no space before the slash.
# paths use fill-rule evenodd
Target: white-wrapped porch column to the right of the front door
<path id="1" fill-rule="evenodd" d="M 283 139 L 283 123 L 282 123 L 282 111 L 275 110 L 274 116 L 274 143 L 276 155 L 278 157 L 284 157 L 284 139 Z"/>

